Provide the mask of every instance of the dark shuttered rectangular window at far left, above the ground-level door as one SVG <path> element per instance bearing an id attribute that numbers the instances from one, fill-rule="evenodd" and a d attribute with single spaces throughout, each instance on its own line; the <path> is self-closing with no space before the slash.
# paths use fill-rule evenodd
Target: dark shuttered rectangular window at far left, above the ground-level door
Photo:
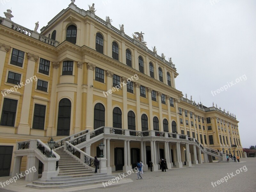
<path id="1" fill-rule="evenodd" d="M 14 127 L 18 100 L 4 98 L 1 125 Z"/>

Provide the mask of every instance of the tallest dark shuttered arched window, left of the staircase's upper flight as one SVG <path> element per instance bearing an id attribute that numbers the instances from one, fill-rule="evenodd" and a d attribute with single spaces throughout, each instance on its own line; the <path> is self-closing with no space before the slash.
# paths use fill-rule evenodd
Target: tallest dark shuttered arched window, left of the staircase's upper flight
<path id="1" fill-rule="evenodd" d="M 69 135 L 71 117 L 71 102 L 64 98 L 59 102 L 57 136 Z"/>

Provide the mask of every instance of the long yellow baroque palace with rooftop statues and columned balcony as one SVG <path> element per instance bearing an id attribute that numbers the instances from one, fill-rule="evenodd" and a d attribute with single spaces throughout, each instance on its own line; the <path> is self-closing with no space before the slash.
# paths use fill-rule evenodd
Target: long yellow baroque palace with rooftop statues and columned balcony
<path id="1" fill-rule="evenodd" d="M 0 176 L 35 166 L 26 180 L 58 177 L 64 153 L 90 168 L 100 143 L 106 175 L 139 161 L 156 171 L 160 158 L 171 169 L 222 160 L 223 150 L 243 157 L 236 117 L 183 97 L 172 60 L 142 32 L 130 37 L 94 4 L 74 3 L 41 33 L 14 23 L 11 10 L 0 17 Z"/>

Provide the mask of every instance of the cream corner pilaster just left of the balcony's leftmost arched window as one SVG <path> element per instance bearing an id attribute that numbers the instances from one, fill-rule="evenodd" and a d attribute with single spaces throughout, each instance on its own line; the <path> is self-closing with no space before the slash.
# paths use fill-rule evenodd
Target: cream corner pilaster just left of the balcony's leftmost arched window
<path id="1" fill-rule="evenodd" d="M 93 76 L 95 65 L 87 63 L 86 125 L 85 129 L 93 129 Z"/>

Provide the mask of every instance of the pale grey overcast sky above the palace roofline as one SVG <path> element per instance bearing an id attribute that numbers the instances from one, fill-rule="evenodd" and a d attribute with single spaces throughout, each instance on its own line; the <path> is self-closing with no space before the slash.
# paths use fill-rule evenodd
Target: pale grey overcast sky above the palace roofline
<path id="1" fill-rule="evenodd" d="M 217 1 L 217 2 L 216 2 Z M 0 0 L 0 16 L 12 8 L 12 21 L 23 27 L 39 29 L 66 9 L 70 0 Z M 239 121 L 242 146 L 256 145 L 255 72 L 256 1 L 254 0 L 166 0 L 122 1 L 76 0 L 77 7 L 95 13 L 124 32 L 145 33 L 147 46 L 157 54 L 172 57 L 179 76 L 176 89 L 192 95 L 196 103 L 230 111 Z M 40 30 L 38 30 L 40 31 Z M 217 92 L 221 87 L 226 91 Z M 222 88 L 222 90 L 223 90 Z M 214 93 L 215 91 L 215 93 Z"/>

